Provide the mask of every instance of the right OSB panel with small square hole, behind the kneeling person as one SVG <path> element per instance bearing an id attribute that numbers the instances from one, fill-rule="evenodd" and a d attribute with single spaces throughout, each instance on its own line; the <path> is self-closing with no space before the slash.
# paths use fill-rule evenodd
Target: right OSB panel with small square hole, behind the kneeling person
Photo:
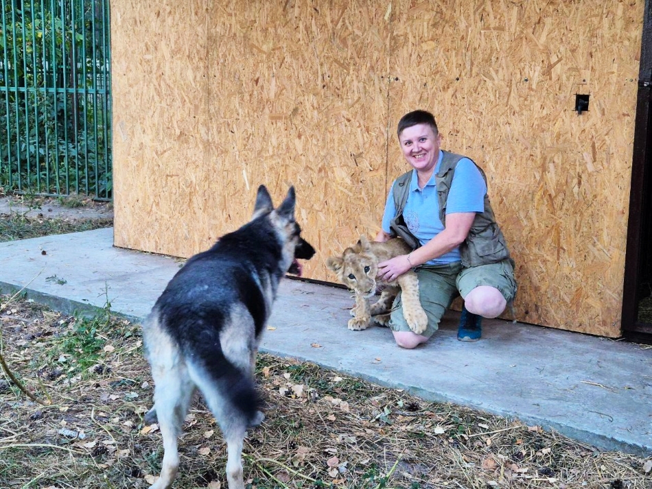
<path id="1" fill-rule="evenodd" d="M 431 110 L 487 172 L 518 319 L 618 336 L 643 2 L 394 5 L 393 125 Z"/>

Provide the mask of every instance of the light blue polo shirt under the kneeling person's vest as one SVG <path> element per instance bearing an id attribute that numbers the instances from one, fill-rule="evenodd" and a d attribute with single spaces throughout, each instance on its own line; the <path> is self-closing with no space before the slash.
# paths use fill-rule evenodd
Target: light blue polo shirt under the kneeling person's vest
<path id="1" fill-rule="evenodd" d="M 444 226 L 439 219 L 439 200 L 437 199 L 436 173 L 439 171 L 443 153 L 439 152 L 439 160 L 430 180 L 419 189 L 417 184 L 417 172 L 412 172 L 412 181 L 410 182 L 410 191 L 408 193 L 408 202 L 406 202 L 403 211 L 403 217 L 408 229 L 421 242 L 421 246 L 428 243 L 441 231 Z M 393 182 L 392 188 L 387 196 L 385 203 L 385 212 L 382 217 L 382 230 L 389 233 L 389 224 L 396 215 L 394 206 L 393 190 L 396 181 Z M 485 211 L 485 193 L 487 193 L 487 184 L 482 178 L 480 170 L 469 160 L 462 158 L 457 163 L 455 174 L 448 194 L 446 204 L 446 215 L 459 212 L 483 212 Z M 450 250 L 441 257 L 430 260 L 430 265 L 441 265 L 442 263 L 451 263 L 460 261 L 460 250 L 455 248 Z"/>

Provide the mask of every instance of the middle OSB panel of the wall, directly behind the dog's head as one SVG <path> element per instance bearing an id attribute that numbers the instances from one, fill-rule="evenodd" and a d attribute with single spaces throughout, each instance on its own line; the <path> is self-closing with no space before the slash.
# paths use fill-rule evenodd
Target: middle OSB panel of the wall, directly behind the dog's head
<path id="1" fill-rule="evenodd" d="M 329 250 L 375 232 L 386 187 L 384 13 L 360 0 L 213 5 L 211 158 L 193 192 L 207 208 L 202 246 L 248 219 L 259 184 L 276 200 L 296 187 L 318 249 L 307 276 L 330 278 Z"/>

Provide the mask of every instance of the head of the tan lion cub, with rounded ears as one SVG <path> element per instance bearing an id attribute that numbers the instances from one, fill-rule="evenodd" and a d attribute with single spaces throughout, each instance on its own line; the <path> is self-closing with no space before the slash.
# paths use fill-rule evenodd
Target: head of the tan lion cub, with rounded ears
<path id="1" fill-rule="evenodd" d="M 360 241 L 344 250 L 341 257 L 329 257 L 326 266 L 349 289 L 364 296 L 375 293 L 378 259 L 371 251 L 371 244 L 366 237 L 361 236 Z"/>

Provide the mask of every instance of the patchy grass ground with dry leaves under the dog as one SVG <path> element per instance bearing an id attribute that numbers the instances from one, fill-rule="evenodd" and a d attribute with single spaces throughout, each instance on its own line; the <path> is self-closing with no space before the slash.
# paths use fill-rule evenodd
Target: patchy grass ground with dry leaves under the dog
<path id="1" fill-rule="evenodd" d="M 0 296 L 0 302 L 7 302 Z M 0 380 L 0 486 L 146 488 L 162 457 L 145 425 L 152 381 L 139 325 L 102 311 L 62 316 L 16 299 L 2 355 L 30 392 Z M 266 420 L 248 434 L 251 489 L 650 489 L 651 461 L 432 403 L 312 363 L 260 355 Z M 200 398 L 180 442 L 176 488 L 226 488 L 226 446 Z"/>

